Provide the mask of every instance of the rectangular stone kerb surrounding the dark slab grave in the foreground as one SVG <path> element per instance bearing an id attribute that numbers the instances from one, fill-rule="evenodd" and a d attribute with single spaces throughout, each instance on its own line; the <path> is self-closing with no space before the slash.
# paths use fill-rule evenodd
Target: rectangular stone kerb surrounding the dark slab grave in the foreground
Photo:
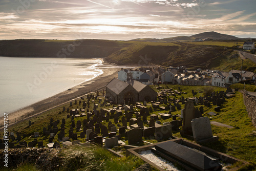
<path id="1" fill-rule="evenodd" d="M 246 161 L 243 161 L 243 160 L 234 158 L 234 157 L 229 156 L 229 155 L 227 155 L 227 154 L 224 154 L 224 153 L 215 151 L 214 149 L 211 149 L 211 148 L 202 146 L 202 145 L 200 145 L 200 144 L 197 144 L 197 143 L 194 143 L 194 142 L 185 140 L 185 139 L 183 139 L 183 138 L 176 138 L 176 139 L 167 140 L 167 141 L 174 141 L 174 142 L 176 142 L 176 143 L 179 143 L 179 144 L 182 144 L 182 145 L 186 145 L 186 146 L 191 147 L 191 148 L 198 149 L 198 150 L 200 150 L 201 152 L 207 153 L 207 154 L 209 154 L 209 155 L 211 155 L 211 156 L 215 156 L 215 157 L 218 157 L 218 158 L 220 158 L 220 159 L 225 159 L 224 162 L 226 162 L 226 163 L 234 164 L 234 163 L 236 163 L 236 162 L 242 162 L 241 165 L 236 166 L 236 167 L 233 167 L 233 168 L 231 168 L 231 169 L 228 169 L 228 171 L 238 170 L 241 166 L 249 164 L 249 162 L 246 162 Z M 158 143 L 154 143 L 154 144 L 149 144 L 149 145 L 144 145 L 144 146 L 140 146 L 140 147 L 135 147 L 135 148 L 126 149 L 126 157 L 129 156 L 129 155 L 135 155 L 135 156 L 139 157 L 140 159 L 142 159 L 143 161 L 145 161 L 146 163 L 150 164 L 151 166 L 157 168 L 158 170 L 164 171 L 165 169 L 159 167 L 158 165 L 156 165 L 156 164 L 153 163 L 152 161 L 150 161 L 150 160 L 148 160 L 148 159 L 142 157 L 139 153 L 140 153 L 140 152 L 143 152 L 143 151 L 150 150 L 151 148 L 154 148 L 155 145 L 161 144 L 161 143 L 164 143 L 164 142 L 167 142 L 167 141 L 162 141 L 162 142 L 158 142 Z M 188 167 L 187 165 L 183 165 L 182 163 L 179 163 L 179 162 L 177 162 L 177 163 L 178 163 L 179 165 L 183 166 L 186 170 L 194 170 L 194 169 Z"/>

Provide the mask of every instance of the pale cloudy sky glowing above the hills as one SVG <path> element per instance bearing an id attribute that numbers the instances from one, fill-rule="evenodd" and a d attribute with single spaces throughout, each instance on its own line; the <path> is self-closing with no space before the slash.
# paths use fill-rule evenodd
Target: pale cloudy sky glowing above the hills
<path id="1" fill-rule="evenodd" d="M 0 39 L 256 37 L 255 0 L 0 0 Z"/>

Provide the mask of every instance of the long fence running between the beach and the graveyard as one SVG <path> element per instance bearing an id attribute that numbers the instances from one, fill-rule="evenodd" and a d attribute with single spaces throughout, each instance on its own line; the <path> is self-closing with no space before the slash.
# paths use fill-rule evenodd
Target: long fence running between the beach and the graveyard
<path id="1" fill-rule="evenodd" d="M 104 90 L 104 89 L 105 89 L 105 86 L 104 86 L 104 87 L 101 87 L 101 88 L 99 88 L 99 89 L 96 89 L 96 90 L 94 90 L 94 91 L 88 91 L 88 92 L 86 92 L 86 93 L 83 93 L 83 94 L 74 96 L 74 97 L 72 97 L 72 98 L 68 98 L 68 99 L 66 99 L 66 100 L 58 101 L 57 103 L 52 103 L 52 105 L 48 105 L 48 106 L 46 106 L 46 107 L 44 107 L 44 108 L 41 108 L 41 109 L 38 109 L 38 110 L 34 110 L 33 112 L 28 113 L 28 114 L 23 115 L 23 116 L 20 116 L 20 117 L 18 117 L 18 118 L 15 118 L 15 119 L 12 119 L 12 120 L 8 120 L 8 125 L 11 125 L 11 124 L 13 124 L 13 123 L 17 123 L 17 122 L 19 122 L 19 121 L 25 120 L 25 119 L 27 119 L 27 118 L 29 118 L 29 117 L 32 117 L 32 116 L 34 116 L 34 115 L 37 115 L 37 114 L 39 114 L 39 113 L 46 112 L 46 111 L 48 111 L 48 110 L 50 110 L 50 109 L 56 108 L 57 106 L 60 106 L 60 105 L 65 104 L 65 103 L 67 103 L 67 102 L 69 102 L 69 101 L 75 100 L 75 99 L 77 99 L 77 98 L 79 98 L 79 97 L 82 97 L 82 96 L 84 96 L 84 95 L 87 95 L 87 94 L 89 94 L 89 93 L 91 93 L 91 92 L 96 92 L 96 91 L 100 91 L 100 90 Z M 0 124 L 0 129 L 2 129 L 3 127 L 4 127 L 4 124 L 1 123 L 1 124 Z"/>

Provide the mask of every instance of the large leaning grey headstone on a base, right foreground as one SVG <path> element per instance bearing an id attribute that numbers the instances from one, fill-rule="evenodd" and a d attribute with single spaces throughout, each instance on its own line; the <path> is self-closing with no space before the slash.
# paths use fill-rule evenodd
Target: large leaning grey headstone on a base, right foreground
<path id="1" fill-rule="evenodd" d="M 191 126 L 196 142 L 212 142 L 219 139 L 218 136 L 212 136 L 210 119 L 208 117 L 192 119 Z"/>

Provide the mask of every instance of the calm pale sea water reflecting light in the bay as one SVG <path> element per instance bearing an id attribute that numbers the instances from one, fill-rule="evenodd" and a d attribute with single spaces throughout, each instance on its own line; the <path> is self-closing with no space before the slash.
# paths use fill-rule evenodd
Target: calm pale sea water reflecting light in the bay
<path id="1" fill-rule="evenodd" d="M 99 59 L 0 57 L 0 61 L 0 116 L 103 73 L 97 69 Z"/>

